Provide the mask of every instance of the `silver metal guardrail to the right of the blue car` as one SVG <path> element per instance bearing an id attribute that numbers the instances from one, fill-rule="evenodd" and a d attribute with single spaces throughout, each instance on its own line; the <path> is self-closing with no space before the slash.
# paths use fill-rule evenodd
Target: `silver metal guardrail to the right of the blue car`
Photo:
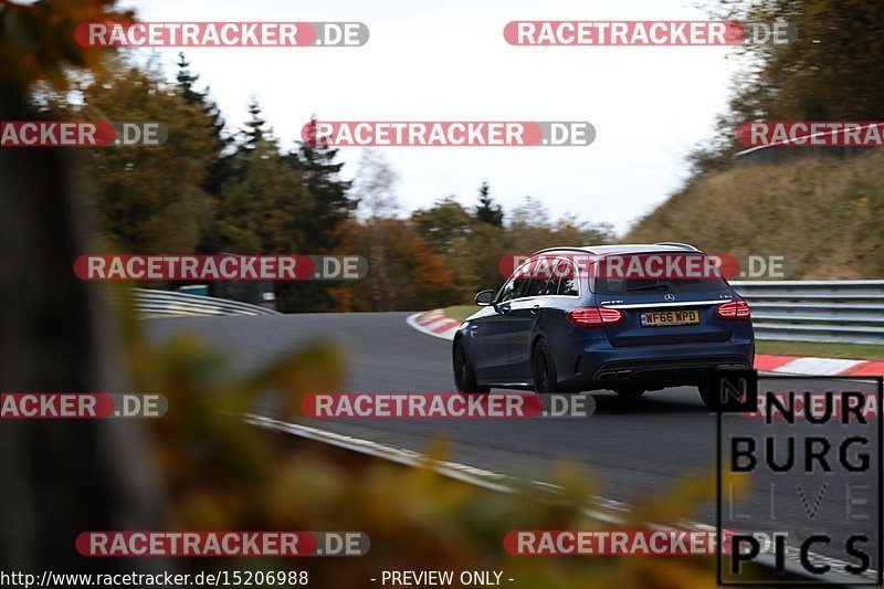
<path id="1" fill-rule="evenodd" d="M 746 281 L 758 339 L 884 345 L 884 281 Z"/>

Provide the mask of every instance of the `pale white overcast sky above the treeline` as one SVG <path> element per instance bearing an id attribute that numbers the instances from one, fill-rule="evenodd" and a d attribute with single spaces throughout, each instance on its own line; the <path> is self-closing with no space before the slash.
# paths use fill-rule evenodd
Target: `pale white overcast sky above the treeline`
<path id="1" fill-rule="evenodd" d="M 187 49 L 227 120 L 250 95 L 284 146 L 312 114 L 326 120 L 589 120 L 588 147 L 381 147 L 403 209 L 482 180 L 508 210 L 530 194 L 554 218 L 623 232 L 686 178 L 687 152 L 712 135 L 735 62 L 727 48 L 512 46 L 511 20 L 692 20 L 696 0 L 124 0 L 144 21 L 361 21 L 361 48 Z M 169 75 L 179 50 L 160 52 Z M 341 149 L 351 175 L 360 148 Z"/>

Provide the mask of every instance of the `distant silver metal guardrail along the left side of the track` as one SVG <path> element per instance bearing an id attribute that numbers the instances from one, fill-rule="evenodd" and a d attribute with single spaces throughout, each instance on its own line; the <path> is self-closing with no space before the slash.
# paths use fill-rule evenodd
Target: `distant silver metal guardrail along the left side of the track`
<path id="1" fill-rule="evenodd" d="M 189 295 L 173 291 L 151 291 L 131 288 L 128 291 L 112 290 L 107 296 L 114 304 L 131 304 L 135 311 L 146 315 L 278 315 L 270 308 L 214 298 L 211 296 Z"/>

